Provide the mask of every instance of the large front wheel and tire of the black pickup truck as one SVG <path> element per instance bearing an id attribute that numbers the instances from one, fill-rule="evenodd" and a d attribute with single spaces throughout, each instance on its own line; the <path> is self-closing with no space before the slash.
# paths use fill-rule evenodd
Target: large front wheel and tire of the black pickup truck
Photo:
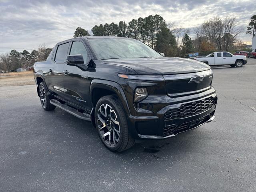
<path id="1" fill-rule="evenodd" d="M 131 137 L 122 104 L 113 95 L 100 98 L 95 108 L 95 124 L 103 144 L 113 152 L 131 148 Z"/>

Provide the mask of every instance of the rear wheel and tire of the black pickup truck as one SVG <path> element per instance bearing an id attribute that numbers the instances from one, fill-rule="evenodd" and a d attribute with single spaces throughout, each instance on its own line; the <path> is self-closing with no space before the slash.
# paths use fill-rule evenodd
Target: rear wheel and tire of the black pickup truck
<path id="1" fill-rule="evenodd" d="M 40 102 L 41 102 L 43 109 L 46 111 L 54 110 L 56 108 L 56 106 L 50 104 L 48 89 L 46 88 L 46 85 L 43 81 L 39 84 L 38 91 L 39 91 Z"/>

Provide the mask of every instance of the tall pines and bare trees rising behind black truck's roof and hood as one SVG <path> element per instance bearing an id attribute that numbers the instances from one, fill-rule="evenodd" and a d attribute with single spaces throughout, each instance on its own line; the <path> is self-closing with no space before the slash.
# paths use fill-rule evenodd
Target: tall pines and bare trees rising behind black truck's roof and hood
<path id="1" fill-rule="evenodd" d="M 252 16 L 247 34 L 254 34 L 255 15 Z M 140 40 L 166 56 L 188 57 L 188 53 L 199 52 L 206 55 L 214 51 L 234 52 L 246 48 L 241 45 L 238 35 L 242 32 L 235 17 L 210 18 L 202 25 L 192 29 L 176 26 L 173 22 L 167 23 L 158 14 L 145 18 L 132 19 L 128 24 L 120 21 L 108 24 L 95 25 L 92 28 L 93 36 L 119 36 Z M 195 38 L 192 40 L 189 35 Z M 74 37 L 89 36 L 87 30 L 76 28 Z"/>

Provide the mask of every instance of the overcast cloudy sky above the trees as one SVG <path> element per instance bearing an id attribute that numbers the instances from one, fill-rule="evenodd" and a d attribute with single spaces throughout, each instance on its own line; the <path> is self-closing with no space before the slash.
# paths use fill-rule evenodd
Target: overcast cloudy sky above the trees
<path id="1" fill-rule="evenodd" d="M 255 0 L 153 0 L 153 1 L 0 1 L 0 52 L 12 49 L 29 52 L 45 43 L 72 38 L 76 27 L 92 34 L 94 25 L 159 14 L 166 22 L 192 28 L 214 16 L 235 16 L 244 31 L 239 36 L 251 44 L 245 34 L 250 17 L 256 14 Z M 193 37 L 191 32 L 190 36 Z"/>

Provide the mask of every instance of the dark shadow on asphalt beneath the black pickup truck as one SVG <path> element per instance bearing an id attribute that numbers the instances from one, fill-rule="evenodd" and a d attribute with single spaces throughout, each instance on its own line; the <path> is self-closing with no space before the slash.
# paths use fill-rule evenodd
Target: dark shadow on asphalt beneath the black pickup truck
<path id="1" fill-rule="evenodd" d="M 65 127 L 61 127 L 62 133 L 59 136 L 55 135 L 56 138 L 54 140 L 63 140 L 64 133 L 68 136 L 65 142 L 71 144 L 69 148 L 72 148 L 72 145 L 76 143 L 80 147 L 73 147 L 78 151 L 85 152 L 86 156 L 96 157 L 100 151 L 100 158 L 103 159 L 115 157 L 115 159 L 117 158 L 116 160 L 119 159 L 126 163 L 148 164 L 149 162 L 156 163 L 176 156 L 185 158 L 193 150 L 203 147 L 200 142 L 198 146 L 198 138 L 203 137 L 202 132 L 200 132 L 203 129 L 202 126 L 165 140 L 137 140 L 132 148 L 121 153 L 114 153 L 102 144 L 96 128 L 90 122 L 80 120 L 57 108 L 52 113 L 54 113 L 52 116 L 56 121 L 65 124 Z M 56 129 L 54 132 L 59 132 L 60 127 L 55 127 L 54 129 Z M 66 153 L 69 152 L 72 153 L 73 151 L 66 151 Z"/>

